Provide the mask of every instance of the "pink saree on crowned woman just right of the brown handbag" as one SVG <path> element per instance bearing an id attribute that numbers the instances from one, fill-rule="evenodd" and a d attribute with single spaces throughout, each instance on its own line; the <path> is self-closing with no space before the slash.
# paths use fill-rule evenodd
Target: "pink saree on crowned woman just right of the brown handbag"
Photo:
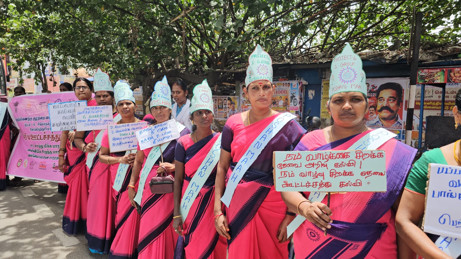
<path id="1" fill-rule="evenodd" d="M 182 196 L 219 135 L 220 133 L 213 133 L 197 143 L 189 135 L 182 136 L 177 141 L 175 160 L 184 163 L 185 167 Z M 180 253 L 182 249 L 185 258 L 226 259 L 226 239 L 218 234 L 212 220 L 215 179 L 216 167 L 190 206 L 189 215 L 183 222 L 183 237 L 179 237 L 176 246 L 175 259 L 184 258 L 184 254 Z M 180 247 L 181 244 L 183 245 Z"/>

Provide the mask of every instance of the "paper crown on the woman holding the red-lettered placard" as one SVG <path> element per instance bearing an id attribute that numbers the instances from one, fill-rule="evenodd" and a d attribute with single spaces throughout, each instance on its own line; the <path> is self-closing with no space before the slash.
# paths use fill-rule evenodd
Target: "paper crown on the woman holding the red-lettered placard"
<path id="1" fill-rule="evenodd" d="M 366 95 L 366 76 L 362 70 L 362 60 L 346 43 L 343 51 L 331 62 L 329 98 L 343 92 L 361 92 Z"/>

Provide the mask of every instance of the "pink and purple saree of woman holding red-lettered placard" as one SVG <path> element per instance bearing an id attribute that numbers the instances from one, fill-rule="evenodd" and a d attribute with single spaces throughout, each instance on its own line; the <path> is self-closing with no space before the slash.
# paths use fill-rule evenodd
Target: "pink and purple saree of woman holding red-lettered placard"
<path id="1" fill-rule="evenodd" d="M 306 134 L 296 150 L 347 150 L 370 131 L 326 143 L 322 130 Z M 296 258 L 397 258 L 395 212 L 416 149 L 391 139 L 378 149 L 386 152 L 387 191 L 331 194 L 331 229 L 324 232 L 309 221 L 294 233 Z M 303 193 L 308 197 L 310 193 Z M 325 196 L 322 203 L 327 203 Z M 299 245 L 301 244 L 301 245 Z"/>

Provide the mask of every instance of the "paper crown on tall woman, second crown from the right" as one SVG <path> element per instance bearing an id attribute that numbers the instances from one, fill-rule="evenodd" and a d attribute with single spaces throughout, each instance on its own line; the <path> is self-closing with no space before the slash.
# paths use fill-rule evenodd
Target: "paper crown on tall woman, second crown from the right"
<path id="1" fill-rule="evenodd" d="M 245 84 L 248 86 L 256 80 L 267 80 L 272 82 L 272 59 L 269 53 L 265 52 L 258 44 L 248 58 L 247 77 Z"/>

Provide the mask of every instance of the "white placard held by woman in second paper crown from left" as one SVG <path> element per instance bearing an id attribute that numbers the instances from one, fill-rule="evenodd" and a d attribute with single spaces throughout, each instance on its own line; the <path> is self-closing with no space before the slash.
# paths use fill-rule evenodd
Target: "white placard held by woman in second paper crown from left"
<path id="1" fill-rule="evenodd" d="M 109 150 L 111 153 L 127 151 L 138 147 L 135 132 L 147 126 L 146 121 L 135 123 L 114 124 L 107 126 Z"/>

